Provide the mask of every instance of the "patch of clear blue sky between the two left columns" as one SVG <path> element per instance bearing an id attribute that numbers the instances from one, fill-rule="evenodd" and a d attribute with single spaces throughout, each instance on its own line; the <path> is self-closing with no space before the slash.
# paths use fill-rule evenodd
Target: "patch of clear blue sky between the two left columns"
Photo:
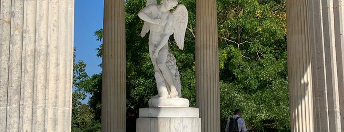
<path id="1" fill-rule="evenodd" d="M 75 0 L 74 11 L 75 60 L 86 63 L 86 72 L 92 76 L 101 71 L 95 49 L 102 42 L 95 41 L 94 32 L 103 28 L 104 0 Z"/>

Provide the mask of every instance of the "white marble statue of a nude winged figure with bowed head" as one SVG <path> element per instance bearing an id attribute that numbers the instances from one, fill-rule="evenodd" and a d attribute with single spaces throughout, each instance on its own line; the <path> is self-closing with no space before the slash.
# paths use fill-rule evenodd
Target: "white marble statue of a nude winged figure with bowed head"
<path id="1" fill-rule="evenodd" d="M 168 52 L 169 36 L 174 39 L 179 49 L 184 48 L 184 36 L 188 25 L 188 10 L 177 0 L 147 0 L 146 7 L 137 14 L 144 25 L 141 36 L 149 31 L 149 54 L 155 70 L 158 95 L 153 98 L 181 98 L 181 84 L 178 67 L 174 56 Z M 170 12 L 176 7 L 175 11 Z"/>

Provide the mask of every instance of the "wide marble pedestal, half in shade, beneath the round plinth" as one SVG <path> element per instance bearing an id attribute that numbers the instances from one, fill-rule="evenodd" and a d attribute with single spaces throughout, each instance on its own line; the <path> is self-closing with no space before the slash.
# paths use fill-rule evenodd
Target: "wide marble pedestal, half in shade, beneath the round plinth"
<path id="1" fill-rule="evenodd" d="M 140 108 L 136 132 L 201 132 L 198 108 Z"/>

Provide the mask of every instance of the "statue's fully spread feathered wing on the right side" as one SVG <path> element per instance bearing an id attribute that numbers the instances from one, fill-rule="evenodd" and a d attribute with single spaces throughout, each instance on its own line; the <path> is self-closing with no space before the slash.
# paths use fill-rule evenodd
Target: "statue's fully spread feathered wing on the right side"
<path id="1" fill-rule="evenodd" d="M 179 4 L 175 11 L 172 12 L 174 16 L 173 21 L 173 37 L 179 49 L 184 48 L 184 37 L 188 26 L 188 10 L 183 4 Z"/>

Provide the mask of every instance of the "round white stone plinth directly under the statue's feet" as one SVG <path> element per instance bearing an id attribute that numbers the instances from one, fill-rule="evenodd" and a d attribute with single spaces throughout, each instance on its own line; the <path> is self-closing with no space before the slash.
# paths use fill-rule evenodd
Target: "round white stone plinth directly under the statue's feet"
<path id="1" fill-rule="evenodd" d="M 188 99 L 183 98 L 151 98 L 148 100 L 149 107 L 188 107 Z"/>

